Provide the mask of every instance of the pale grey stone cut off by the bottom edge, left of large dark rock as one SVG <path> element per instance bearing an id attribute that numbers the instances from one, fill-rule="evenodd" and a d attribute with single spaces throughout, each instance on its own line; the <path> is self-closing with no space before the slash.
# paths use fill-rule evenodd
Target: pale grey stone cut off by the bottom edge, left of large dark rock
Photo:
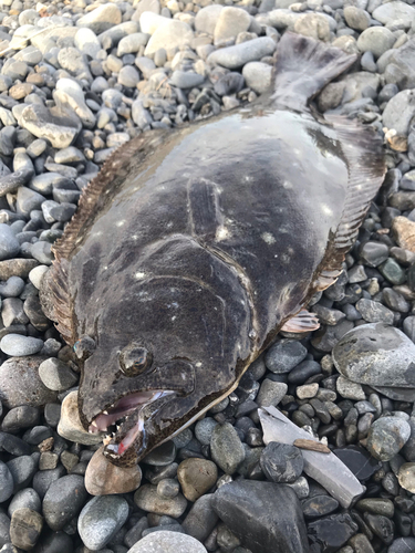
<path id="1" fill-rule="evenodd" d="M 157 530 L 139 540 L 127 553 L 207 553 L 207 550 L 189 535 Z"/>

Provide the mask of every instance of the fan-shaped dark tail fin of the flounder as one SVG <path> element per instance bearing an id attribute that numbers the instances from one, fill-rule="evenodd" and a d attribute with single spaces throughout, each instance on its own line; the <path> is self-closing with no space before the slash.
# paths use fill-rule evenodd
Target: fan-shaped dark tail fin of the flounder
<path id="1" fill-rule="evenodd" d="M 280 105 L 304 109 L 326 84 L 356 60 L 339 48 L 309 36 L 286 32 L 279 42 L 272 100 Z"/>

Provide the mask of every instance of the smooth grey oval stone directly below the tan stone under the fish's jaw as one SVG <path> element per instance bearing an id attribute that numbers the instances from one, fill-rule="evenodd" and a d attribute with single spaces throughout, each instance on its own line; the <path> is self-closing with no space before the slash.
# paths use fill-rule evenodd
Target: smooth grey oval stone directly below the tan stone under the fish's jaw
<path id="1" fill-rule="evenodd" d="M 105 547 L 128 518 L 128 503 L 117 495 L 93 498 L 77 519 L 81 540 L 90 550 Z"/>

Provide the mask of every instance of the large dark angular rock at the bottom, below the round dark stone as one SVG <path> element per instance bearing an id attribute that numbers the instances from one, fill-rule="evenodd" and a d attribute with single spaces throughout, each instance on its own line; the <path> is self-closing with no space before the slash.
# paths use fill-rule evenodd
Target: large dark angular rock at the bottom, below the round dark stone
<path id="1" fill-rule="evenodd" d="M 252 553 L 309 552 L 301 505 L 287 486 L 253 480 L 230 482 L 215 493 L 212 507 Z"/>

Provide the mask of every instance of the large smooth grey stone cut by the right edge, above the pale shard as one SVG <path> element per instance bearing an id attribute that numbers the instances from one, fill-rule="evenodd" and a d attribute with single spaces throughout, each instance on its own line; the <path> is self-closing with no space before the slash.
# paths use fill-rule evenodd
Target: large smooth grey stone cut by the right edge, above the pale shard
<path id="1" fill-rule="evenodd" d="M 334 365 L 344 377 L 374 386 L 415 387 L 414 358 L 414 343 L 383 323 L 347 332 L 333 349 Z"/>

